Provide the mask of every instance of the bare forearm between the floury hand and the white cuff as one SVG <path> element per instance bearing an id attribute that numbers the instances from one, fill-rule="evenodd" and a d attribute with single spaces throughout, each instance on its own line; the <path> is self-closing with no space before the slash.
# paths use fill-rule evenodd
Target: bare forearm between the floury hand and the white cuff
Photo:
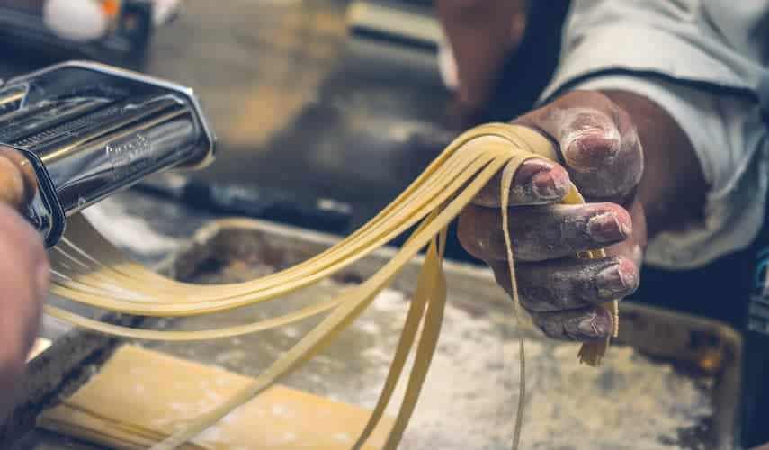
<path id="1" fill-rule="evenodd" d="M 602 91 L 630 115 L 644 153 L 638 199 L 648 235 L 683 229 L 702 220 L 708 185 L 691 140 L 663 108 L 640 94 Z"/>

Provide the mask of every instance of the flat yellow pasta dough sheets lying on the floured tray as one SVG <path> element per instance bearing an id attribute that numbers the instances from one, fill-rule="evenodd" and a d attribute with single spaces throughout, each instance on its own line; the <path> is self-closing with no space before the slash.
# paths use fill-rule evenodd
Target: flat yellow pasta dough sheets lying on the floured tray
<path id="1" fill-rule="evenodd" d="M 38 425 L 117 449 L 147 448 L 253 380 L 137 346 L 123 346 L 99 374 Z M 370 410 L 275 385 L 185 444 L 187 450 L 346 450 Z M 384 445 L 384 418 L 363 448 Z"/>

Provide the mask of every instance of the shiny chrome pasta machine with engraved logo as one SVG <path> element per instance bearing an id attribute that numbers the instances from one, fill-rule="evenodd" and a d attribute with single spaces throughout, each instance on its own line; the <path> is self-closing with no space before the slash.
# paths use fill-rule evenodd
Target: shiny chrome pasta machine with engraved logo
<path id="1" fill-rule="evenodd" d="M 0 146 L 30 161 L 37 189 L 23 215 L 48 247 L 66 218 L 170 168 L 213 160 L 214 135 L 192 90 L 91 62 L 67 62 L 0 86 Z"/>

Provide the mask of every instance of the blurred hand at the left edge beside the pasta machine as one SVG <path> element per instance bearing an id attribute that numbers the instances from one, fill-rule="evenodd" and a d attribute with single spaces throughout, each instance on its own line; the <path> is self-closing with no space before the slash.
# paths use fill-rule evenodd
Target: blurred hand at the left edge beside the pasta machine
<path id="1" fill-rule="evenodd" d="M 29 168 L 0 149 L 0 418 L 13 405 L 48 293 L 42 240 L 15 209 L 31 192 L 25 175 Z"/>

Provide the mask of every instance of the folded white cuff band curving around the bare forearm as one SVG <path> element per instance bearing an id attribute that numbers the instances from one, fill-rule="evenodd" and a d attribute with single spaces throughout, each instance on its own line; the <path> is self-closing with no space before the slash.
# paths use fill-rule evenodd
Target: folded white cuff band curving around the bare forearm
<path id="1" fill-rule="evenodd" d="M 649 242 L 648 264 L 702 266 L 750 245 L 763 224 L 769 182 L 769 146 L 755 104 L 632 76 L 593 78 L 576 87 L 620 89 L 646 96 L 678 122 L 700 160 L 710 186 L 704 221 L 684 231 L 658 234 Z"/>

